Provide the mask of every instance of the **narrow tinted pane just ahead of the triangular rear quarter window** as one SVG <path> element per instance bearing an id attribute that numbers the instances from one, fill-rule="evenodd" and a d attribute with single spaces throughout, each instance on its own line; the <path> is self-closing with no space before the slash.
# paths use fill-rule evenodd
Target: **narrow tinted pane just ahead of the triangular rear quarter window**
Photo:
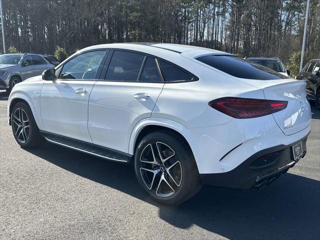
<path id="1" fill-rule="evenodd" d="M 143 82 L 161 82 L 159 69 L 156 65 L 155 58 L 147 57 L 141 72 L 140 81 Z"/>

